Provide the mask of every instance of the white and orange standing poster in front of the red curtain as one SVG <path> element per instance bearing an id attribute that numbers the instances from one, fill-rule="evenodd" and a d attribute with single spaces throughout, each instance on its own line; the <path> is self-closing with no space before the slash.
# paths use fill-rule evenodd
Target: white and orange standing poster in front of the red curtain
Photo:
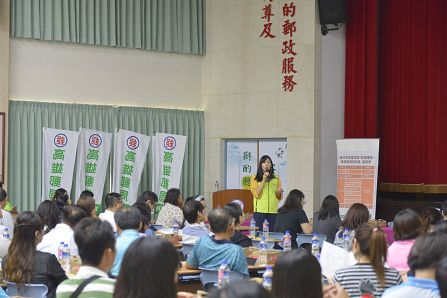
<path id="1" fill-rule="evenodd" d="M 379 139 L 337 140 L 337 198 L 343 216 L 354 203 L 376 215 Z"/>

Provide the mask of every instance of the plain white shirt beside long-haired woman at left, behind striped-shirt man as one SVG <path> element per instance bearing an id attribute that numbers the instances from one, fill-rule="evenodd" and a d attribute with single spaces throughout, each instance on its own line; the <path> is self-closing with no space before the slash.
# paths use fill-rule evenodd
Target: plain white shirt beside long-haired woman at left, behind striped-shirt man
<path id="1" fill-rule="evenodd" d="M 37 244 L 37 250 L 53 254 L 57 258 L 57 251 L 61 242 L 68 244 L 70 253 L 78 255 L 78 246 L 74 241 L 74 233 L 67 224 L 57 224 L 51 231 L 43 236 L 42 242 Z"/>

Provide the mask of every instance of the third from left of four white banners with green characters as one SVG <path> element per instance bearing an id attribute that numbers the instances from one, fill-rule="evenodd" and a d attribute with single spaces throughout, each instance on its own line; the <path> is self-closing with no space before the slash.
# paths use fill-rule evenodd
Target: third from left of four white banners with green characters
<path id="1" fill-rule="evenodd" d="M 124 129 L 115 133 L 112 190 L 121 194 L 126 205 L 132 205 L 137 199 L 150 140 L 148 136 Z"/>

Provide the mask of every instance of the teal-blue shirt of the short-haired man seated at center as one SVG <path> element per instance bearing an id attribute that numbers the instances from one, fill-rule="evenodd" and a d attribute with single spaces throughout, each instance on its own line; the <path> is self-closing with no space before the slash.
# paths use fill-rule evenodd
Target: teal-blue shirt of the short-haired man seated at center
<path id="1" fill-rule="evenodd" d="M 215 240 L 211 236 L 200 238 L 187 263 L 196 268 L 218 270 L 221 261 L 227 261 L 231 271 L 240 272 L 248 276 L 247 258 L 241 246 L 226 240 Z"/>

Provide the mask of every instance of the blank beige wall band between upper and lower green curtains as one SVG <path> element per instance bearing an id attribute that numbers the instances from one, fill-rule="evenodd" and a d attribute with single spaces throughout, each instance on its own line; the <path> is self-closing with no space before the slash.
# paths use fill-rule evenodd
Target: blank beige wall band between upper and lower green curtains
<path id="1" fill-rule="evenodd" d="M 11 39 L 10 60 L 11 99 L 203 107 L 199 55 Z"/>

